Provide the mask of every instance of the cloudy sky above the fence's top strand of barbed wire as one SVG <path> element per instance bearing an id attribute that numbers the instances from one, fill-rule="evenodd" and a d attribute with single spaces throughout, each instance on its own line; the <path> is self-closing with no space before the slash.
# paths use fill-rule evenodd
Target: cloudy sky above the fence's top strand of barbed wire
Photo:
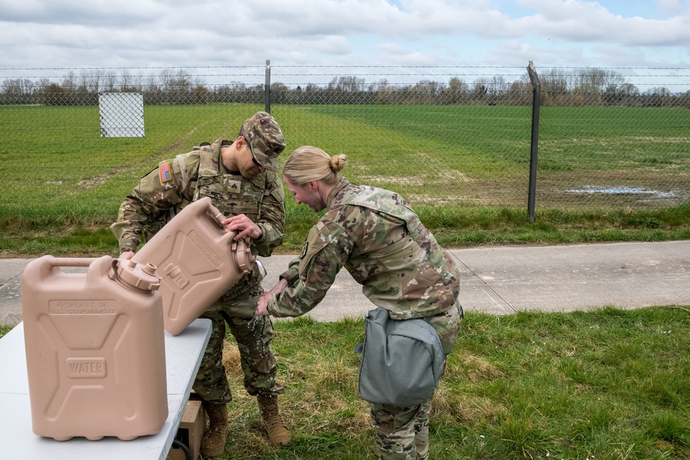
<path id="1" fill-rule="evenodd" d="M 27 68 L 266 59 L 274 68 L 533 61 L 686 77 L 690 68 L 690 0 L 0 0 L 0 27 L 0 79 Z"/>

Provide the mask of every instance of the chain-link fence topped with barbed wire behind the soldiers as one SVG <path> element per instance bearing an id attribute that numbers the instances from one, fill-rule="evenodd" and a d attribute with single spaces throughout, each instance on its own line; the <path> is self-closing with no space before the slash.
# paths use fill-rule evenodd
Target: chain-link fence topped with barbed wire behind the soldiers
<path id="1" fill-rule="evenodd" d="M 537 82 L 526 67 L 0 71 L 7 215 L 112 217 L 159 161 L 235 139 L 257 110 L 287 152 L 348 154 L 351 181 L 416 206 L 526 209 L 529 190 L 538 209 L 690 197 L 689 69 L 536 68 Z"/>

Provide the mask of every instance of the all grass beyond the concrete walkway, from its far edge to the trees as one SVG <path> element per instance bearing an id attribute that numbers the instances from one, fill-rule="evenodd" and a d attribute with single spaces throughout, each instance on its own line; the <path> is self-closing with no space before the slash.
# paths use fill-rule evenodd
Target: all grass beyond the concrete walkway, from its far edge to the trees
<path id="1" fill-rule="evenodd" d="M 106 228 L 139 177 L 201 141 L 234 138 L 242 121 L 262 109 L 146 106 L 146 137 L 101 138 L 97 107 L 0 106 L 0 251 L 41 251 L 66 237 L 96 251 L 106 240 L 112 244 Z M 348 154 L 344 173 L 351 181 L 400 192 L 448 244 L 660 238 L 650 230 L 687 237 L 687 220 L 678 216 L 690 202 L 690 110 L 542 108 L 541 227 L 525 221 L 529 107 L 324 105 L 272 112 L 286 152 L 311 144 Z M 315 217 L 292 199 L 286 207 L 286 247 L 299 248 Z M 570 233 L 553 234 L 561 228 Z M 581 231 L 589 236 L 573 233 Z"/>

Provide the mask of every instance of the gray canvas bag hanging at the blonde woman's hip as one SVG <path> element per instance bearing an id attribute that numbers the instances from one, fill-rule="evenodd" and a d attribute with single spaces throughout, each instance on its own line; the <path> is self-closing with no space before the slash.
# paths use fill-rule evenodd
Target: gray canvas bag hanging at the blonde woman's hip
<path id="1" fill-rule="evenodd" d="M 441 340 L 428 319 L 391 319 L 375 308 L 365 319 L 359 396 L 370 403 L 417 406 L 435 390 L 445 368 Z"/>

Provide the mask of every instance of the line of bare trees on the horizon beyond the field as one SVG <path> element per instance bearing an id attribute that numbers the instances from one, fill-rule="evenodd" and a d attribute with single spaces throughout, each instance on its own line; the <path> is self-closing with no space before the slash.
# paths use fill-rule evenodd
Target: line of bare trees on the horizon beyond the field
<path id="1" fill-rule="evenodd" d="M 539 73 L 542 103 L 563 105 L 652 105 L 669 106 L 669 101 L 688 106 L 690 91 L 673 93 L 658 86 L 640 91 L 624 75 L 605 68 L 547 69 Z M 261 102 L 264 85 L 239 81 L 209 85 L 184 69 L 164 69 L 159 74 L 115 75 L 100 69 L 70 71 L 60 81 L 48 78 L 5 79 L 0 85 L 0 103 L 46 103 L 88 105 L 97 103 L 99 92 L 142 92 L 147 103 Z M 466 81 L 450 77 L 447 82 L 422 79 L 417 83 L 391 83 L 380 79 L 367 83 L 356 75 L 334 76 L 326 84 L 288 86 L 270 83 L 275 103 L 489 103 L 522 105 L 531 103 L 533 88 L 527 74 L 513 81 L 503 75 Z M 71 96 L 70 96 L 71 95 Z M 88 97 L 87 95 L 90 95 Z M 664 103 L 665 101 L 665 103 Z"/>

